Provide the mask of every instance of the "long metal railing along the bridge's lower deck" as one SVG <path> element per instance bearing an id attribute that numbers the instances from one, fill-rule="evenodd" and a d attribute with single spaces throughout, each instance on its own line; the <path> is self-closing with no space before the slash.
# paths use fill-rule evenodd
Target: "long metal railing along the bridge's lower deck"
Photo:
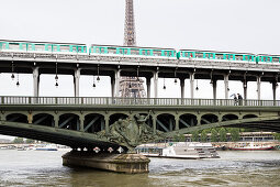
<path id="1" fill-rule="evenodd" d="M 280 107 L 280 100 L 189 99 L 189 98 L 110 98 L 110 97 L 14 97 L 0 96 L 1 106 L 224 106 Z"/>

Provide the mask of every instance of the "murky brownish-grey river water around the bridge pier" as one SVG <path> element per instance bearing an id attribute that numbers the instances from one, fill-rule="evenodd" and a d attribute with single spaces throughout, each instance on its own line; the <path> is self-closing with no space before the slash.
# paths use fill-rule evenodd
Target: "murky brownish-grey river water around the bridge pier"
<path id="1" fill-rule="evenodd" d="M 61 165 L 65 152 L 0 150 L 0 186 L 146 187 L 279 186 L 280 152 L 219 152 L 215 160 L 152 158 L 149 174 L 126 175 Z"/>

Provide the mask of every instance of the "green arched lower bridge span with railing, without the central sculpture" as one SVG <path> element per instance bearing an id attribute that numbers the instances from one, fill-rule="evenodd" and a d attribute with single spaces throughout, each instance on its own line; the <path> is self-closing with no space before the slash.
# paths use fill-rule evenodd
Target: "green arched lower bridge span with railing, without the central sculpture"
<path id="1" fill-rule="evenodd" d="M 116 150 L 120 144 L 125 148 L 126 144 L 105 134 L 119 119 L 133 120 L 136 116 L 148 117 L 152 134 L 161 132 L 161 139 L 216 127 L 280 132 L 279 100 L 0 97 L 0 111 L 1 134 L 72 148 Z"/>

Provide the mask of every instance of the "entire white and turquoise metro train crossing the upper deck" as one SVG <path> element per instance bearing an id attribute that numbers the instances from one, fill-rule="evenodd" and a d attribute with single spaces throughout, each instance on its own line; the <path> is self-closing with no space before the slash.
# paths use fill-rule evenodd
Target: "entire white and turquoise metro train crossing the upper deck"
<path id="1" fill-rule="evenodd" d="M 280 56 L 264 54 L 247 54 L 232 52 L 197 51 L 175 48 L 156 48 L 138 46 L 114 46 L 96 45 L 87 47 L 86 44 L 72 43 L 48 43 L 48 42 L 26 42 L 26 41 L 4 41 L 0 40 L 0 52 L 43 52 L 43 53 L 68 53 L 85 55 L 113 55 L 132 57 L 156 57 L 168 59 L 200 59 L 200 61 L 233 61 L 242 63 L 276 63 L 280 64 Z"/>

